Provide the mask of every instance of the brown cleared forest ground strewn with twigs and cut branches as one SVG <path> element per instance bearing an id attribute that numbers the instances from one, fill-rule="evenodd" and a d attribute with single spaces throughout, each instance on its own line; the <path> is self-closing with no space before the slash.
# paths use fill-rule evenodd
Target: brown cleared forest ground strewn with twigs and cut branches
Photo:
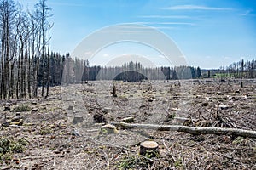
<path id="1" fill-rule="evenodd" d="M 113 82 L 102 81 L 50 88 L 47 99 L 2 101 L 0 169 L 256 169 L 256 139 L 150 129 L 107 134 L 95 120 L 256 131 L 255 79 L 242 88 L 234 79 L 115 86 L 117 97 Z M 74 124 L 73 116 L 84 121 Z M 157 156 L 138 154 L 145 140 L 159 144 Z"/>

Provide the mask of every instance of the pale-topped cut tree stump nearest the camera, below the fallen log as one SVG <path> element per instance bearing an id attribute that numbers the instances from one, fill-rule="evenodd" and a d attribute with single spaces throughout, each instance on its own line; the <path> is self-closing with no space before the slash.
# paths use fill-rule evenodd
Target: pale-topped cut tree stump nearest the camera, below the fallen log
<path id="1" fill-rule="evenodd" d="M 140 144 L 140 155 L 145 156 L 150 154 L 150 156 L 155 156 L 158 153 L 158 144 L 154 141 L 144 141 Z"/>

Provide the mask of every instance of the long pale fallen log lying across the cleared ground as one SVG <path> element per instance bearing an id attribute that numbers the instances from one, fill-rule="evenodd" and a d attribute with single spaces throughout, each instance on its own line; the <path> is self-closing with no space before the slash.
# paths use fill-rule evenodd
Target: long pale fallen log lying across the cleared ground
<path id="1" fill-rule="evenodd" d="M 182 125 L 155 125 L 155 124 L 138 124 L 125 122 L 112 122 L 114 126 L 121 128 L 144 128 L 159 131 L 177 131 L 190 134 L 218 134 L 218 135 L 235 135 L 249 138 L 256 138 L 256 131 L 243 130 L 237 128 L 222 128 L 222 127 L 188 127 Z"/>

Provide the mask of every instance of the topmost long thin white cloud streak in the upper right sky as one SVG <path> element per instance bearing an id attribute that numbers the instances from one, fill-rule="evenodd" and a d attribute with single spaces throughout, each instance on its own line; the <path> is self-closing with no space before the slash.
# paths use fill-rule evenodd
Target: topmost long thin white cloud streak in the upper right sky
<path id="1" fill-rule="evenodd" d="M 232 8 L 217 8 L 217 7 L 207 7 L 201 5 L 177 5 L 172 7 L 166 7 L 161 9 L 167 10 L 232 10 Z"/>

